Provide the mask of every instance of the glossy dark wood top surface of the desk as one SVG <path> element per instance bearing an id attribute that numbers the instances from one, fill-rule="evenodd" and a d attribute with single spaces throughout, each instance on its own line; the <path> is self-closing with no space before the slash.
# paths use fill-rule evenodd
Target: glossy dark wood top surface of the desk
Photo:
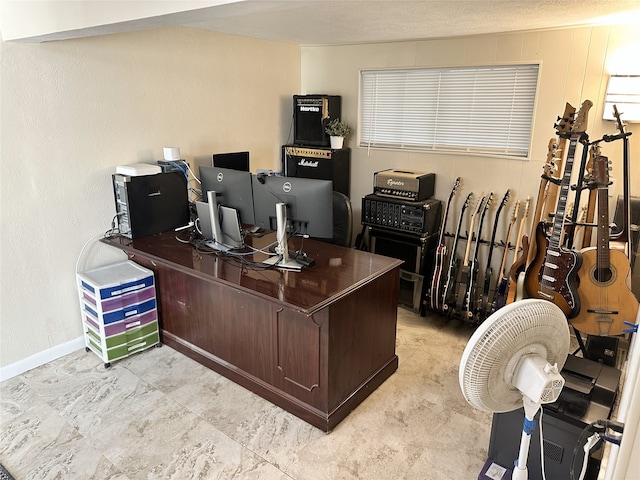
<path id="1" fill-rule="evenodd" d="M 250 237 L 245 241 L 253 248 L 266 248 L 275 234 Z M 259 252 L 245 257 L 199 251 L 189 243 L 178 240 L 174 232 L 166 232 L 131 240 L 125 237 L 102 239 L 102 242 L 121 248 L 135 261 L 142 255 L 152 261 L 171 266 L 184 273 L 205 280 L 219 281 L 285 303 L 307 314 L 313 314 L 349 292 L 375 278 L 398 268 L 402 261 L 329 243 L 293 238 L 289 249 L 301 244 L 307 256 L 315 260 L 313 267 L 300 272 L 275 268 L 254 268 L 242 258 L 261 262 L 267 255 Z M 248 250 L 246 250 L 248 251 Z"/>

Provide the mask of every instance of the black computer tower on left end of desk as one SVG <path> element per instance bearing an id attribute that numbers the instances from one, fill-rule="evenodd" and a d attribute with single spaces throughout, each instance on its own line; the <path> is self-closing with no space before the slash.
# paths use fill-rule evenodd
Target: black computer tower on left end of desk
<path id="1" fill-rule="evenodd" d="M 146 237 L 189 223 L 187 179 L 182 172 L 113 175 L 120 234 Z"/>

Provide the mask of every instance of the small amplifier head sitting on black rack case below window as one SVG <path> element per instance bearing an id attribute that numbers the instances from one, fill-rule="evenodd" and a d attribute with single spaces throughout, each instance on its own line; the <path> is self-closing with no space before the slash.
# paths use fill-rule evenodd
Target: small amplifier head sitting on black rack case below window
<path id="1" fill-rule="evenodd" d="M 373 193 L 419 202 L 433 196 L 435 173 L 382 170 L 373 174 Z"/>

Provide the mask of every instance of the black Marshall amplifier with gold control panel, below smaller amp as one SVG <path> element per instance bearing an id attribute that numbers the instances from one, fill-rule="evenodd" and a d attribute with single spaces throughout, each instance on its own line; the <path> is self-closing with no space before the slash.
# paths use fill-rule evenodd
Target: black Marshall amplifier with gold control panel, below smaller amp
<path id="1" fill-rule="evenodd" d="M 333 189 L 348 197 L 351 186 L 351 150 L 284 145 L 282 171 L 287 177 L 332 180 Z"/>

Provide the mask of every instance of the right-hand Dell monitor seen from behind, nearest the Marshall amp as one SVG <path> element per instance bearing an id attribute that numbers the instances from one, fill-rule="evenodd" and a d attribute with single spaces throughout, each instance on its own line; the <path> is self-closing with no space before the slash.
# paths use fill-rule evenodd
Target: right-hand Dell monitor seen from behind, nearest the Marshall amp
<path id="1" fill-rule="evenodd" d="M 286 204 L 287 232 L 333 237 L 333 182 L 300 177 L 253 175 L 255 225 L 277 230 L 276 204 Z"/>

